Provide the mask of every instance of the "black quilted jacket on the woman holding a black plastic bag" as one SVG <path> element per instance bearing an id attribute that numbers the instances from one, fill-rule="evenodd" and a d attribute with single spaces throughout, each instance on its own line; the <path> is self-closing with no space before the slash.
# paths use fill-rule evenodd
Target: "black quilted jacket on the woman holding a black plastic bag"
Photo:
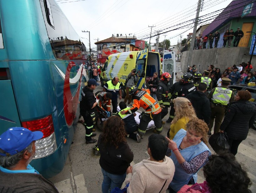
<path id="1" fill-rule="evenodd" d="M 249 101 L 231 103 L 220 130 L 226 131 L 230 139 L 244 140 L 256 118 L 256 107 Z"/>

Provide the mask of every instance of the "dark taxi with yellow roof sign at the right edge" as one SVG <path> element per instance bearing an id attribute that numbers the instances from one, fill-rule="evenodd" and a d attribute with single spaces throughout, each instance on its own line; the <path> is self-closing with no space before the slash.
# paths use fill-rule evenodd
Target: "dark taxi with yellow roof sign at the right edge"
<path id="1" fill-rule="evenodd" d="M 236 94 L 240 90 L 248 90 L 252 95 L 252 98 L 249 101 L 253 102 L 256 106 L 256 84 L 255 84 L 255 82 L 250 82 L 248 85 L 247 84 L 230 85 L 229 89 L 232 90 L 234 92 L 234 94 Z M 256 120 L 254 120 L 254 125 L 252 128 L 254 130 L 256 130 Z"/>

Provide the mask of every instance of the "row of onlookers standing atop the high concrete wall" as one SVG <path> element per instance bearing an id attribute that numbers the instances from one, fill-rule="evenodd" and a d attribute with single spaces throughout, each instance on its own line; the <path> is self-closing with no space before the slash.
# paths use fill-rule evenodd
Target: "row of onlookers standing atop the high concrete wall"
<path id="1" fill-rule="evenodd" d="M 233 31 L 233 29 L 226 30 L 223 38 L 220 38 L 219 31 L 216 31 L 215 33 L 210 32 L 209 35 L 205 35 L 204 37 L 201 35 L 196 37 L 194 49 L 217 48 L 218 45 L 219 47 L 231 47 L 233 40 L 233 47 L 237 47 L 243 36 L 244 32 L 240 30 L 240 28 L 237 28 L 237 31 Z"/>

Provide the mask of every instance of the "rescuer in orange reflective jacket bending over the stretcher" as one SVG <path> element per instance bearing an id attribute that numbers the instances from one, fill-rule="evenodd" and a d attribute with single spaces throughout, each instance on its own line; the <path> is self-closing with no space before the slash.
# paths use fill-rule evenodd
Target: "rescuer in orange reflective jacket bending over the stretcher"
<path id="1" fill-rule="evenodd" d="M 145 111 L 140 115 L 140 124 L 138 128 L 138 134 L 143 139 L 143 135 L 146 133 L 149 122 L 153 119 L 156 129 L 155 133 L 160 134 L 162 132 L 162 120 L 161 120 L 161 107 L 154 98 L 150 96 L 150 90 L 138 91 L 138 88 L 133 85 L 129 88 L 129 94 L 132 95 L 133 106 L 126 111 L 121 111 L 122 115 L 135 113 L 140 107 Z"/>

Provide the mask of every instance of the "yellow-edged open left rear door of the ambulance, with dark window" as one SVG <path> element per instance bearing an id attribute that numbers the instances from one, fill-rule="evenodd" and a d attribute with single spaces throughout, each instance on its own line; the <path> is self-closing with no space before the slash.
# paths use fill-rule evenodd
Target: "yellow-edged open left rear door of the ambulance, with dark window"
<path id="1" fill-rule="evenodd" d="M 136 58 L 136 70 L 139 75 L 139 81 L 136 86 L 141 89 L 145 88 L 145 76 L 146 76 L 146 68 L 147 68 L 147 58 L 148 58 L 148 49 L 143 49 L 139 52 Z"/>

